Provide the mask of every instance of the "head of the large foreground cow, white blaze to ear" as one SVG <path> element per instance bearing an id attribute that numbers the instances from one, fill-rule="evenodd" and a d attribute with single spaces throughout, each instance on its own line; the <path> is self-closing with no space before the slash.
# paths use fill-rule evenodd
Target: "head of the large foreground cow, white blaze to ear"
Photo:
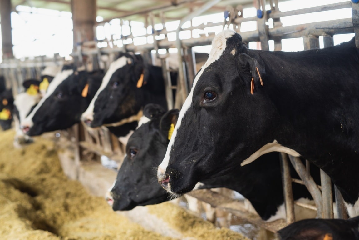
<path id="1" fill-rule="evenodd" d="M 260 55 L 249 51 L 232 30 L 219 33 L 159 165 L 158 181 L 166 190 L 186 193 L 198 181 L 223 175 L 265 153 L 255 152 L 273 141 L 261 136 L 275 129 L 266 121 L 276 115 L 265 101 L 261 82 L 266 85 Z"/>

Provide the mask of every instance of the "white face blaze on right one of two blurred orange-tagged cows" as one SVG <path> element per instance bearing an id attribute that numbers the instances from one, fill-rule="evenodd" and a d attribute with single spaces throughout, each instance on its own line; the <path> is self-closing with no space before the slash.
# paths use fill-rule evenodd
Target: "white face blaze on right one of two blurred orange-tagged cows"
<path id="1" fill-rule="evenodd" d="M 96 101 L 98 95 L 103 91 L 103 89 L 106 88 L 110 78 L 115 73 L 115 71 L 117 69 L 122 68 L 126 64 L 127 64 L 127 57 L 126 56 L 122 56 L 122 57 L 120 57 L 119 59 L 117 59 L 116 61 L 114 61 L 114 62 L 112 62 L 110 64 L 108 70 L 106 71 L 106 74 L 104 75 L 104 77 L 102 79 L 102 83 L 101 83 L 99 89 L 97 90 L 95 96 L 92 98 L 92 100 L 90 102 L 90 105 L 87 107 L 86 111 L 82 114 L 83 117 L 87 117 L 88 119 L 93 117 L 93 110 L 94 110 L 94 106 L 95 106 L 95 101 Z M 92 120 L 92 119 L 90 119 L 90 120 Z"/>

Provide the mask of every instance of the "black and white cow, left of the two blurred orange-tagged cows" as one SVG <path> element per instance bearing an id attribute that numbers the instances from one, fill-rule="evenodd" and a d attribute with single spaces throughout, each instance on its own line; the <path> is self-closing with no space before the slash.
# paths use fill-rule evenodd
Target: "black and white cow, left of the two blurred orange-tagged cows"
<path id="1" fill-rule="evenodd" d="M 89 73 L 77 71 L 73 66 L 64 66 L 48 85 L 45 96 L 21 121 L 23 132 L 34 136 L 78 123 L 102 78 L 102 70 Z"/>

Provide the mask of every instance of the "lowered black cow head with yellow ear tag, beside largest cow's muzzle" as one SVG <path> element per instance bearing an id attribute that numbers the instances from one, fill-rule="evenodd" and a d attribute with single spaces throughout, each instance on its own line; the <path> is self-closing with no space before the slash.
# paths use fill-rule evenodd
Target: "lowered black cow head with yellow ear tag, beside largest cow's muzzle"
<path id="1" fill-rule="evenodd" d="M 143 124 L 129 138 L 125 159 L 107 199 L 113 210 L 130 210 L 170 199 L 156 181 L 156 167 L 166 152 L 168 131 L 177 114 L 178 110 L 164 114 L 159 105 L 145 106 L 140 120 Z"/>

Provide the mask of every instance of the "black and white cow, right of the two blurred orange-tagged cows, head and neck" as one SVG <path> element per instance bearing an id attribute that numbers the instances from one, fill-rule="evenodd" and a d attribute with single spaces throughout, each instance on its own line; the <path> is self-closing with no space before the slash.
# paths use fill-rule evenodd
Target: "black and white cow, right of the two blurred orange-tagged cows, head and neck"
<path id="1" fill-rule="evenodd" d="M 130 124 L 134 130 L 147 103 L 167 109 L 162 68 L 145 64 L 140 55 L 122 53 L 109 66 L 81 120 L 92 128 Z M 117 128 L 109 128 L 117 137 Z"/>

